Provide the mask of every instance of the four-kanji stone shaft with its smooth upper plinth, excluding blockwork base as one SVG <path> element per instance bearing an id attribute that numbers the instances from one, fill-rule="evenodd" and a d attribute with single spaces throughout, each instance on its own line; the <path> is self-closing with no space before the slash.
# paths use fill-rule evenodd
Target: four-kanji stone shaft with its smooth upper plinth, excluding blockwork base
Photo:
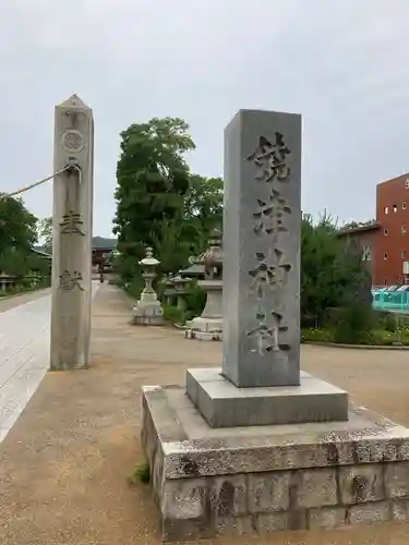
<path id="1" fill-rule="evenodd" d="M 188 370 L 210 427 L 348 420 L 300 373 L 301 116 L 240 110 L 225 132 L 222 368 Z"/>

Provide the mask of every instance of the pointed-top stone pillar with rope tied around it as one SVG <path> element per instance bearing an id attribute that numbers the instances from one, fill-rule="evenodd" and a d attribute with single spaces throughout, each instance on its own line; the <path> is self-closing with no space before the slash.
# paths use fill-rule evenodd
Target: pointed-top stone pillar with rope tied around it
<path id="1" fill-rule="evenodd" d="M 52 210 L 51 363 L 89 363 L 93 238 L 93 112 L 76 95 L 56 107 Z"/>

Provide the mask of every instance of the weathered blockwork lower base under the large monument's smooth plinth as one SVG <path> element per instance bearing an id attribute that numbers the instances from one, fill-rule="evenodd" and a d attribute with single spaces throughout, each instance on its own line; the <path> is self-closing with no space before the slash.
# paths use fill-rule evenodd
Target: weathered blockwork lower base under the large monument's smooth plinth
<path id="1" fill-rule="evenodd" d="M 181 387 L 145 387 L 142 440 L 165 542 L 409 521 L 409 431 L 349 421 L 210 428 Z"/>

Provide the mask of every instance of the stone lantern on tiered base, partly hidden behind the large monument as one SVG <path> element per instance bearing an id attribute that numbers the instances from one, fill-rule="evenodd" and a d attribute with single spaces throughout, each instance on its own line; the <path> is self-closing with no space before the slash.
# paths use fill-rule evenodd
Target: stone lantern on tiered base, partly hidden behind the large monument
<path id="1" fill-rule="evenodd" d="M 222 250 L 221 233 L 212 232 L 209 246 L 199 264 L 205 267 L 205 278 L 197 286 L 206 291 L 206 305 L 201 316 L 193 318 L 185 331 L 188 339 L 222 340 Z"/>

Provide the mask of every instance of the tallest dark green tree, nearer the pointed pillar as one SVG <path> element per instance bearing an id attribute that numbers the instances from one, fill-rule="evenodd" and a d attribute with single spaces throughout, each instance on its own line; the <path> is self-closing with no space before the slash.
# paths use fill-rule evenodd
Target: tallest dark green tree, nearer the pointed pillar
<path id="1" fill-rule="evenodd" d="M 181 119 L 154 118 L 121 133 L 113 232 L 118 234 L 123 278 L 135 275 L 146 245 L 154 247 L 164 271 L 181 265 L 173 256 L 163 259 L 160 251 L 167 226 L 171 226 L 176 238 L 182 229 L 191 175 L 184 154 L 195 147 L 188 131 L 189 125 Z"/>

